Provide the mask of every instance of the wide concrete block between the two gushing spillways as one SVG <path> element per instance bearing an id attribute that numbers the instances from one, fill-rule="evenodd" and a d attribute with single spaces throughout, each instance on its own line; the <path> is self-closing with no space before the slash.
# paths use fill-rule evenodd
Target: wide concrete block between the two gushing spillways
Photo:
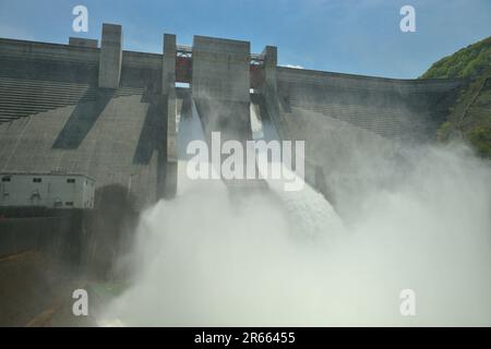
<path id="1" fill-rule="evenodd" d="M 251 139 L 250 43 L 194 36 L 191 91 L 206 139 Z"/>

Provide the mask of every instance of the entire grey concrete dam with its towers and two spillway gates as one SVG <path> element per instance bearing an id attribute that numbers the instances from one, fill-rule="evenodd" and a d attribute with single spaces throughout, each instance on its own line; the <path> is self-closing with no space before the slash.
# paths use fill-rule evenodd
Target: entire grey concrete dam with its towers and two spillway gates
<path id="1" fill-rule="evenodd" d="M 286 68 L 274 46 L 254 53 L 248 41 L 205 36 L 183 46 L 165 34 L 161 53 L 122 47 L 115 24 L 103 25 L 100 43 L 0 39 L 0 273 L 3 258 L 40 250 L 106 278 L 99 270 L 129 249 L 115 241 L 125 240 L 141 212 L 176 196 L 184 121 L 195 116 L 207 142 L 215 131 L 252 140 L 254 118 L 274 130 L 266 140 L 306 141 L 306 182 L 349 210 L 335 188 L 356 169 L 339 158 L 361 155 L 347 145 L 384 152 L 431 143 L 466 84 Z M 11 179 L 25 176 L 58 180 L 63 191 L 76 177 L 95 195 L 81 189 L 81 206 L 36 205 L 55 191 L 49 184 L 46 193 L 24 190 L 26 207 L 5 204 L 15 195 Z"/>

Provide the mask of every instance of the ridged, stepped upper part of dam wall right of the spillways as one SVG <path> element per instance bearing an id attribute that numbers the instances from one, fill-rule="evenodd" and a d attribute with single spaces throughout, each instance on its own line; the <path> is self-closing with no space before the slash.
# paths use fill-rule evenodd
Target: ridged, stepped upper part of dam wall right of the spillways
<path id="1" fill-rule="evenodd" d="M 463 80 L 397 80 L 278 68 L 283 113 L 320 112 L 383 137 L 428 141 Z M 310 122 L 309 120 L 304 120 Z M 295 132 L 295 131 L 294 131 Z"/>

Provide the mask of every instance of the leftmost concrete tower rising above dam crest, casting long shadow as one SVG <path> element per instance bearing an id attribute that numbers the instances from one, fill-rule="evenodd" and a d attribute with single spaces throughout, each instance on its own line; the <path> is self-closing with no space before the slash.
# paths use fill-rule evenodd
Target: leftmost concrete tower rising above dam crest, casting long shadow
<path id="1" fill-rule="evenodd" d="M 99 87 L 118 88 L 121 77 L 122 28 L 117 24 L 103 24 L 99 56 Z"/>

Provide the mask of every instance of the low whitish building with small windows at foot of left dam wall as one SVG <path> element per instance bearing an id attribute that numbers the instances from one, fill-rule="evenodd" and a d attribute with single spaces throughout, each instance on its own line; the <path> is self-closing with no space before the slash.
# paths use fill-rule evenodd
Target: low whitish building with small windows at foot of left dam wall
<path id="1" fill-rule="evenodd" d="M 85 174 L 0 173 L 0 206 L 93 208 L 94 193 Z"/>

